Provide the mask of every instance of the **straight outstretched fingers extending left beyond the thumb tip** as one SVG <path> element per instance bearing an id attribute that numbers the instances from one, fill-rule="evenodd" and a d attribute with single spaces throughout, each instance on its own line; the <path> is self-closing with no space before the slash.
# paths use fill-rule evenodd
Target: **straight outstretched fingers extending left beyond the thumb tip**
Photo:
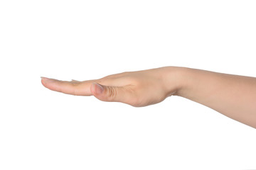
<path id="1" fill-rule="evenodd" d="M 52 90 L 58 91 L 64 94 L 72 94 L 78 96 L 91 96 L 90 85 L 92 81 L 60 81 L 57 79 L 49 79 L 41 77 L 43 86 Z"/>

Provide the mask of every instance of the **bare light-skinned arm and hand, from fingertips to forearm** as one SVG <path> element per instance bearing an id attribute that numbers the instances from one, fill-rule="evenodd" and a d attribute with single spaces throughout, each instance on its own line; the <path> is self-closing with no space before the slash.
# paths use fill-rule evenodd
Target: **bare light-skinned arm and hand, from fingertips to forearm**
<path id="1" fill-rule="evenodd" d="M 160 67 L 112 74 L 87 81 L 60 81 L 41 77 L 46 88 L 100 101 L 149 106 L 175 95 L 208 106 L 256 128 L 256 78 L 186 67 Z"/>

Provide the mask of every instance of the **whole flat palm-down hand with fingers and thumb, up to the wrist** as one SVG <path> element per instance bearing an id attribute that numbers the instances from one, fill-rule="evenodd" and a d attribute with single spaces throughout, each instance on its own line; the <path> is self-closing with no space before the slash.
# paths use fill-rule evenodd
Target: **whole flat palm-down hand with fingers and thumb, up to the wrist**
<path id="1" fill-rule="evenodd" d="M 41 77 L 46 88 L 78 96 L 95 96 L 100 101 L 117 101 L 141 107 L 159 103 L 172 94 L 177 86 L 173 67 L 161 67 L 138 72 L 123 72 L 88 81 L 60 81 Z"/>

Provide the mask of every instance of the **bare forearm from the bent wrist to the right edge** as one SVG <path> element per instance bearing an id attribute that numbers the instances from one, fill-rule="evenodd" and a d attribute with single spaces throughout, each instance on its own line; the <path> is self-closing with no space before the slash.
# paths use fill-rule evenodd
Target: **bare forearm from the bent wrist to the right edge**
<path id="1" fill-rule="evenodd" d="M 256 78 L 177 67 L 174 95 L 188 98 L 256 128 Z"/>

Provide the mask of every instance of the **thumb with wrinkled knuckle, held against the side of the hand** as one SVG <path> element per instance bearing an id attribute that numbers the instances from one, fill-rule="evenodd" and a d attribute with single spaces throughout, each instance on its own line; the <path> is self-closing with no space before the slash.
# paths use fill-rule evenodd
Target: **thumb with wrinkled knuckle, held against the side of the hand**
<path id="1" fill-rule="evenodd" d="M 92 83 L 90 90 L 92 95 L 100 101 L 117 101 L 127 103 L 131 96 L 124 86 L 104 86 L 102 84 Z"/>

